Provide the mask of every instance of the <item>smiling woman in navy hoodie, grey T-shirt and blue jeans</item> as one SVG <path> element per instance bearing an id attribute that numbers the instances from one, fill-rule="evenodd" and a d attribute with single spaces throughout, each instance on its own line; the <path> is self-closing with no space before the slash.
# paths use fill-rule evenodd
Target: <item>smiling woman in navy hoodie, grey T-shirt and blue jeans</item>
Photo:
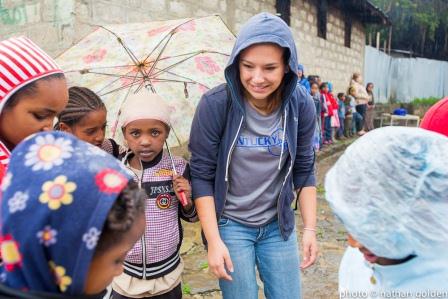
<path id="1" fill-rule="evenodd" d="M 300 268 L 317 255 L 313 134 L 315 108 L 297 88 L 297 53 L 280 18 L 252 17 L 225 69 L 227 84 L 202 97 L 189 149 L 193 198 L 208 261 L 224 298 L 300 294 Z M 294 191 L 304 222 L 298 255 Z"/>

